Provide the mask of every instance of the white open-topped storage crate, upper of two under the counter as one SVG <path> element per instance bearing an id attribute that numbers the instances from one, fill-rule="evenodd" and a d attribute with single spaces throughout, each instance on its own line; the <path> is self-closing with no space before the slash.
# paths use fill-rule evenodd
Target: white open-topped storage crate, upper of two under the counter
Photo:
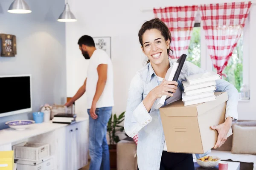
<path id="1" fill-rule="evenodd" d="M 50 145 L 44 143 L 22 142 L 12 147 L 14 159 L 39 161 L 50 156 Z"/>

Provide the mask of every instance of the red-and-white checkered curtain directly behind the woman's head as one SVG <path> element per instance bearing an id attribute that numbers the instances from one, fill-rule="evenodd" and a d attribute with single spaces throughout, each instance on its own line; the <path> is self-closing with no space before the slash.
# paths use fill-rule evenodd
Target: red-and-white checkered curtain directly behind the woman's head
<path id="1" fill-rule="evenodd" d="M 174 52 L 170 57 L 179 58 L 183 53 L 187 54 L 198 6 L 154 8 L 153 10 L 155 17 L 166 23 L 171 31 L 170 48 Z"/>

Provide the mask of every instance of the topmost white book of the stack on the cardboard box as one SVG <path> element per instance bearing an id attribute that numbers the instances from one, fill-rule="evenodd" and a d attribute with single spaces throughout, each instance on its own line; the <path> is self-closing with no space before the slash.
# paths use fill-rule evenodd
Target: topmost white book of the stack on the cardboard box
<path id="1" fill-rule="evenodd" d="M 217 80 L 220 79 L 221 76 L 213 71 L 209 71 L 206 73 L 200 73 L 200 74 L 193 74 L 190 76 L 185 76 L 186 77 L 186 82 L 189 85 L 195 85 L 198 83 L 202 83 L 202 82 L 209 82 L 209 81 L 213 81 L 213 80 Z"/>

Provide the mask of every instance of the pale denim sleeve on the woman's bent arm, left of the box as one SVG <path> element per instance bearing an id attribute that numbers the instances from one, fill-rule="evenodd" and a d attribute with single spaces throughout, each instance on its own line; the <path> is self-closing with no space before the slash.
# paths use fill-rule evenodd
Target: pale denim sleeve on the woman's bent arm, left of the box
<path id="1" fill-rule="evenodd" d="M 134 137 L 144 126 L 151 122 L 152 117 L 143 104 L 143 80 L 137 72 L 131 80 L 125 111 L 125 133 Z"/>

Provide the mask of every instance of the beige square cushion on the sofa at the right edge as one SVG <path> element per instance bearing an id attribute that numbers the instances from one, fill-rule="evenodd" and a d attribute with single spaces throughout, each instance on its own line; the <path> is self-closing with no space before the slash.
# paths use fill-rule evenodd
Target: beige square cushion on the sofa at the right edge
<path id="1" fill-rule="evenodd" d="M 256 154 L 256 126 L 233 125 L 231 153 Z"/>

